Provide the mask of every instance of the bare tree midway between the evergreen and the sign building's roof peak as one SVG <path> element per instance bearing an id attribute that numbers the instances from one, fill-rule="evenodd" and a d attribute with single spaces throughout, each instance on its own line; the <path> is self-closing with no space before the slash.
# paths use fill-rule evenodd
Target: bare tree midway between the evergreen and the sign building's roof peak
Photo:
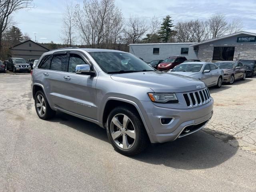
<path id="1" fill-rule="evenodd" d="M 208 39 L 208 22 L 195 20 L 192 22 L 193 39 L 195 42 L 202 42 Z"/>

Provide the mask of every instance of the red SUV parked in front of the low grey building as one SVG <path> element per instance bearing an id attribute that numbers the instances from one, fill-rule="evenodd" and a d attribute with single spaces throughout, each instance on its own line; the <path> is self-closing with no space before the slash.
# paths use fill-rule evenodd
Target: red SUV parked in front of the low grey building
<path id="1" fill-rule="evenodd" d="M 168 71 L 186 60 L 186 57 L 168 57 L 158 65 L 157 69 L 159 71 Z"/>

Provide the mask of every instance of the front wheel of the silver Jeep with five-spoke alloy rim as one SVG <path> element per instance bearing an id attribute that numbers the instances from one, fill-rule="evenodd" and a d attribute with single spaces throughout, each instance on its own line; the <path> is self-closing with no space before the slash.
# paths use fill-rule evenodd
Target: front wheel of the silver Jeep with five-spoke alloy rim
<path id="1" fill-rule="evenodd" d="M 142 152 L 149 143 L 138 112 L 132 108 L 113 109 L 107 120 L 108 139 L 114 149 L 127 156 Z"/>

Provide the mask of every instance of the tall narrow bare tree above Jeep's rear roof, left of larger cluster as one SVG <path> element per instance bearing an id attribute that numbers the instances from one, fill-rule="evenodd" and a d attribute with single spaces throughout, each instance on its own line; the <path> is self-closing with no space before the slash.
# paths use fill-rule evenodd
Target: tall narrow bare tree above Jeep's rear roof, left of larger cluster
<path id="1" fill-rule="evenodd" d="M 65 12 L 62 17 L 61 39 L 67 45 L 72 47 L 76 42 L 75 24 L 74 24 L 74 3 L 66 2 Z"/>

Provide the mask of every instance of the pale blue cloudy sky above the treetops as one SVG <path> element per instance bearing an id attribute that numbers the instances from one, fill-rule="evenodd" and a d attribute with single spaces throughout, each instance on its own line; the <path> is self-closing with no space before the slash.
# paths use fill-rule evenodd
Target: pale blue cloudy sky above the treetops
<path id="1" fill-rule="evenodd" d="M 34 0 L 36 8 L 21 10 L 14 20 L 22 32 L 27 32 L 38 42 L 58 42 L 64 12 L 64 0 Z M 76 0 L 82 5 L 82 0 Z M 211 14 L 221 12 L 228 20 L 240 18 L 244 31 L 256 33 L 256 0 L 116 0 L 124 18 L 137 15 L 146 20 L 158 16 L 172 16 L 174 24 L 182 20 L 206 20 Z"/>

